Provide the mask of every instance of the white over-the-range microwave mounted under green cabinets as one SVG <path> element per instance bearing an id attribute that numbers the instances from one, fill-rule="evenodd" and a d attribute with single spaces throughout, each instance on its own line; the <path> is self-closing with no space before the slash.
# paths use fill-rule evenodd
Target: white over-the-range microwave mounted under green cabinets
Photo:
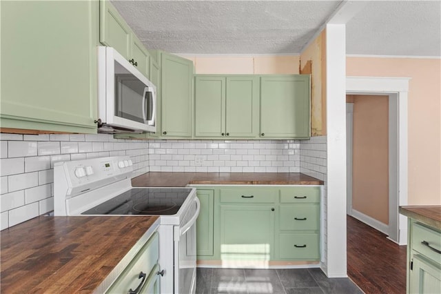
<path id="1" fill-rule="evenodd" d="M 156 132 L 156 86 L 112 47 L 98 47 L 98 132 Z"/>

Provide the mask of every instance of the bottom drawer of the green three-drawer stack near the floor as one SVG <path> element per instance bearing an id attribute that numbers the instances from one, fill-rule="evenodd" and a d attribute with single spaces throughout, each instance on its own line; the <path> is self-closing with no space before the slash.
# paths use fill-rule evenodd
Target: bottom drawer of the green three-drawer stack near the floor
<path id="1" fill-rule="evenodd" d="M 279 257 L 290 260 L 320 259 L 320 237 L 318 233 L 279 234 Z"/>

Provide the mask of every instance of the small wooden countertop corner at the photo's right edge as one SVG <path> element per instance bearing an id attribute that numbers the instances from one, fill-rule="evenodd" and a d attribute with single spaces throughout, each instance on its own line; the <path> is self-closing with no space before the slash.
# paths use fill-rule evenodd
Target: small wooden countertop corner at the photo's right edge
<path id="1" fill-rule="evenodd" d="M 441 230 L 441 206 L 400 206 L 400 213 Z"/>

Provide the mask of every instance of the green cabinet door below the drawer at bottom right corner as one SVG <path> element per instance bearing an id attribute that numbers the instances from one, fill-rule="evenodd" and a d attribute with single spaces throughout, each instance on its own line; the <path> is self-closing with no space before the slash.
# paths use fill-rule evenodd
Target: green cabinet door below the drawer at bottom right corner
<path id="1" fill-rule="evenodd" d="M 441 293 L 441 265 L 422 255 L 413 255 L 409 293 Z"/>

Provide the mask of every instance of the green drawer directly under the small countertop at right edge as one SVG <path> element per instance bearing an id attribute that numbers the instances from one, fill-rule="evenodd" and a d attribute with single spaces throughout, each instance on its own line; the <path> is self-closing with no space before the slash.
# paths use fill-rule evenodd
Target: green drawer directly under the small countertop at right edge
<path id="1" fill-rule="evenodd" d="M 412 248 L 429 259 L 441 264 L 441 233 L 418 223 L 412 225 Z M 423 244 L 426 243 L 426 244 Z M 430 248 L 430 247 L 431 248 Z M 434 248 L 434 249 L 432 249 Z"/>

